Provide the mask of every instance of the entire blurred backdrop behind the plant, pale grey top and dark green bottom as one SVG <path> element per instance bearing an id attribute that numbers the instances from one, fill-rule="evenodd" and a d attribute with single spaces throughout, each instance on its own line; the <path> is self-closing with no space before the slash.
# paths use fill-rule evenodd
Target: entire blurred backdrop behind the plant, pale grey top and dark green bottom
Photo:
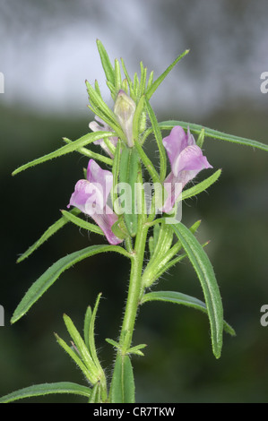
<path id="1" fill-rule="evenodd" d="M 122 322 L 129 274 L 124 257 L 106 254 L 78 263 L 20 322 L 9 322 L 26 290 L 53 262 L 101 242 L 69 224 L 27 261 L 15 263 L 59 218 L 87 165 L 72 154 L 11 176 L 14 168 L 60 147 L 63 136 L 74 140 L 88 132 L 93 116 L 84 80 L 97 78 L 107 92 L 95 40 L 101 39 L 111 58 L 123 56 L 131 74 L 143 60 L 156 76 L 189 47 L 190 55 L 152 98 L 159 121 L 191 121 L 268 143 L 268 94 L 260 90 L 260 75 L 268 71 L 267 12 L 262 0 L 1 3 L 0 395 L 39 382 L 84 383 L 53 332 L 68 340 L 64 313 L 82 330 L 86 307 L 99 292 L 99 357 L 108 374 L 113 366 L 105 338 L 117 339 Z M 153 156 L 152 142 L 150 148 Z M 211 139 L 204 150 L 222 176 L 184 204 L 183 221 L 203 221 L 198 239 L 211 240 L 206 251 L 225 319 L 237 337 L 224 337 L 222 357 L 215 360 L 205 315 L 176 305 L 144 305 L 134 331 L 135 344 L 148 344 L 145 357 L 133 358 L 137 402 L 268 401 L 268 327 L 260 323 L 261 306 L 268 304 L 268 154 Z M 157 288 L 203 299 L 186 261 Z M 59 395 L 30 400 L 67 401 Z"/>

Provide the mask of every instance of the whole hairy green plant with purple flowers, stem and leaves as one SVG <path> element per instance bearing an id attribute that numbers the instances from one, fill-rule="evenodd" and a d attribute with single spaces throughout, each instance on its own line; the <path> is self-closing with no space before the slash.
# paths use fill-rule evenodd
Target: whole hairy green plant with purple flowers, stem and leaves
<path id="1" fill-rule="evenodd" d="M 68 211 L 62 211 L 62 217 L 22 254 L 18 262 L 22 262 L 68 222 L 103 236 L 104 242 L 70 253 L 50 266 L 26 292 L 11 322 L 19 321 L 56 279 L 76 262 L 98 253 L 121 253 L 129 259 L 131 271 L 121 331 L 117 340 L 106 339 L 116 350 L 115 365 L 110 376 L 107 376 L 95 346 L 99 294 L 93 308 L 89 306 L 85 312 L 83 335 L 77 331 L 71 318 L 64 315 L 72 346 L 56 335 L 58 344 L 81 369 L 87 384 L 56 382 L 34 385 L 4 396 L 1 402 L 50 393 L 73 393 L 82 395 L 91 403 L 133 403 L 135 385 L 131 357 L 143 356 L 145 348 L 145 344 L 134 343 L 134 324 L 138 309 L 147 302 L 165 301 L 186 305 L 207 314 L 212 352 L 216 358 L 220 357 L 223 331 L 235 335 L 223 319 L 220 290 L 212 263 L 204 251 L 205 245 L 200 245 L 196 238 L 200 221 L 186 228 L 181 222 L 181 203 L 188 197 L 202 193 L 220 177 L 221 170 L 218 169 L 202 182 L 185 189 L 200 171 L 212 168 L 202 150 L 205 137 L 266 151 L 268 146 L 201 125 L 157 121 L 150 104 L 151 96 L 178 61 L 186 56 L 187 50 L 155 80 L 153 72 L 148 77 L 147 68 L 141 63 L 140 78 L 135 73 L 132 81 L 124 60 L 121 60 L 125 75 L 123 79 L 119 61 L 116 59 L 112 65 L 99 40 L 97 46 L 108 89 L 114 100 L 113 109 L 102 99 L 98 82 L 94 87 L 86 82 L 89 107 L 95 116 L 90 123 L 91 133 L 76 141 L 64 138 L 65 145 L 60 149 L 17 168 L 13 175 L 73 151 L 89 159 L 86 174 L 77 181 L 73 193 L 70 186 L 70 201 L 66 203 Z M 162 137 L 164 131 L 169 132 L 166 137 Z M 151 133 L 159 152 L 157 167 L 144 149 Z M 98 152 L 88 148 L 91 143 L 99 146 Z M 151 183 L 145 183 L 145 176 L 148 175 Z M 89 216 L 91 221 L 84 219 L 83 215 Z M 178 291 L 153 290 L 155 282 L 164 272 L 186 259 L 194 267 L 201 283 L 204 302 Z"/>

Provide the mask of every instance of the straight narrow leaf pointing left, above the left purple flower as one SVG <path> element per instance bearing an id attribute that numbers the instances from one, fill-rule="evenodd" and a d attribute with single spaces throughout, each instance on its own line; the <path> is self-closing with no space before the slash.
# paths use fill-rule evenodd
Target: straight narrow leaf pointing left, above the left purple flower
<path id="1" fill-rule="evenodd" d="M 43 162 L 47 162 L 50 159 L 61 157 L 75 150 L 80 150 L 83 146 L 88 145 L 89 143 L 114 135 L 115 133 L 112 132 L 94 132 L 85 134 L 80 139 L 77 139 L 77 141 L 68 143 L 65 146 L 62 146 L 61 148 L 54 150 L 54 152 L 48 153 L 48 155 L 44 155 L 43 157 L 28 162 L 28 164 L 22 165 L 22 167 L 15 169 L 12 175 L 15 176 L 16 174 L 24 171 L 27 168 L 31 168 L 36 165 L 42 164 Z"/>

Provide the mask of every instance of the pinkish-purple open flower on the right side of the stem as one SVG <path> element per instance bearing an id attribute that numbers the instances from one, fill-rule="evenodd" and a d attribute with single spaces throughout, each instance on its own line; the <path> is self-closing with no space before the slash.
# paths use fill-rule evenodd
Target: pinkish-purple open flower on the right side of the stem
<path id="1" fill-rule="evenodd" d="M 195 138 L 182 127 L 176 125 L 169 136 L 163 139 L 167 150 L 171 172 L 167 176 L 164 186 L 169 196 L 161 211 L 169 213 L 184 186 L 204 168 L 212 168 L 202 150 L 195 144 Z"/>

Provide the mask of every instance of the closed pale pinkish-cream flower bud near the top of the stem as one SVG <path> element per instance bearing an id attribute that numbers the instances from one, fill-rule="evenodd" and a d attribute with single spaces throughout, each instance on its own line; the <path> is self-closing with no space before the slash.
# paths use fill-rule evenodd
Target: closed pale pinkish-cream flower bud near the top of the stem
<path id="1" fill-rule="evenodd" d="M 133 139 L 133 118 L 136 105 L 134 100 L 126 95 L 124 90 L 119 90 L 117 100 L 115 103 L 114 112 L 117 120 L 120 123 L 125 136 L 127 144 L 130 148 L 134 146 Z"/>

